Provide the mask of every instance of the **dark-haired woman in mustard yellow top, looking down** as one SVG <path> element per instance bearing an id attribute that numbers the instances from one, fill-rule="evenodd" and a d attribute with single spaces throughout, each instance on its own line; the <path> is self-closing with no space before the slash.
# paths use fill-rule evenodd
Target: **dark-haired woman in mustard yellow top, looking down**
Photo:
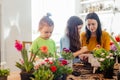
<path id="1" fill-rule="evenodd" d="M 97 45 L 110 50 L 110 37 L 106 31 L 102 31 L 101 22 L 96 13 L 89 13 L 86 16 L 86 31 L 81 33 L 81 44 L 92 51 Z"/>

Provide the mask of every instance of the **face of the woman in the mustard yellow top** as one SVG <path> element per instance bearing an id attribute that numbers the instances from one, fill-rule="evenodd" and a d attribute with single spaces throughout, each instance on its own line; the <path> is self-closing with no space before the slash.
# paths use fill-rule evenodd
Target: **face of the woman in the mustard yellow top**
<path id="1" fill-rule="evenodd" d="M 87 19 L 86 25 L 87 25 L 88 30 L 90 30 L 92 33 L 96 32 L 98 28 L 98 23 L 95 19 Z"/>

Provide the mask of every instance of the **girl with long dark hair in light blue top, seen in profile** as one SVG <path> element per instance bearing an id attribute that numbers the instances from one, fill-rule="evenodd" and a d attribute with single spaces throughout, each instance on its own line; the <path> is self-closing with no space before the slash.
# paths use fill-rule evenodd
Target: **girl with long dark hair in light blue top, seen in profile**
<path id="1" fill-rule="evenodd" d="M 81 47 L 79 33 L 82 27 L 83 21 L 79 17 L 71 16 L 68 19 L 66 33 L 60 39 L 60 51 L 62 51 L 63 48 L 70 49 L 75 57 L 88 51 L 87 48 Z M 79 58 L 76 58 L 74 61 L 78 60 Z"/>

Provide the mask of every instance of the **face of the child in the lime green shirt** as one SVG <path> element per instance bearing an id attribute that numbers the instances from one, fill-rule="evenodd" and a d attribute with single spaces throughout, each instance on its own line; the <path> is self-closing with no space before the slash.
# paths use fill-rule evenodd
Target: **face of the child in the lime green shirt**
<path id="1" fill-rule="evenodd" d="M 40 36 L 44 39 L 49 39 L 53 32 L 53 28 L 54 28 L 53 26 L 43 26 L 40 29 Z"/>

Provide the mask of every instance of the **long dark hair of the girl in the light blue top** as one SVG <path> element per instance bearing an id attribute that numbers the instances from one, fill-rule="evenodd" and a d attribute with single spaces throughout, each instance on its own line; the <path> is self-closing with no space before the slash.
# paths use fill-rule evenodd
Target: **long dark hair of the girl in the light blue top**
<path id="1" fill-rule="evenodd" d="M 75 52 L 80 49 L 80 35 L 78 25 L 82 25 L 83 21 L 77 16 L 71 16 L 67 21 L 67 36 L 70 40 L 70 50 Z"/>

